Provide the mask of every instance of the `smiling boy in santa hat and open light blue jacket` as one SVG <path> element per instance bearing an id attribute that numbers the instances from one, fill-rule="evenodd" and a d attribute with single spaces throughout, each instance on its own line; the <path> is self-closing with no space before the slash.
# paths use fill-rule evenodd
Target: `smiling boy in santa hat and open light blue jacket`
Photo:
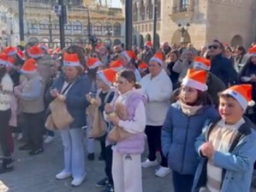
<path id="1" fill-rule="evenodd" d="M 220 119 L 210 122 L 196 139 L 201 162 L 193 192 L 250 191 L 256 160 L 255 124 L 243 116 L 252 101 L 252 85 L 234 85 L 220 92 Z"/>

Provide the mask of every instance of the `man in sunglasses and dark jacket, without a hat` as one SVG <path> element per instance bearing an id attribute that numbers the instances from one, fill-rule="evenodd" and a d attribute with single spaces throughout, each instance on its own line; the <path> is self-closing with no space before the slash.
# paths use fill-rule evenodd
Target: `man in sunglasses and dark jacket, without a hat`
<path id="1" fill-rule="evenodd" d="M 224 46 L 220 41 L 214 40 L 208 46 L 211 68 L 210 72 L 224 82 L 226 86 L 234 85 L 238 74 L 235 72 L 232 63 L 223 56 Z"/>

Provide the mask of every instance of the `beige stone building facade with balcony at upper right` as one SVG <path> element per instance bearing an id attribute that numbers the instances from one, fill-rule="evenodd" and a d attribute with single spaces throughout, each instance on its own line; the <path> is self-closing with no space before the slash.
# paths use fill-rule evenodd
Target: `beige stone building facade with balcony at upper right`
<path id="1" fill-rule="evenodd" d="M 153 39 L 153 3 L 154 0 L 133 0 L 137 46 Z M 200 48 L 213 39 L 245 47 L 255 41 L 255 0 L 156 0 L 156 10 L 158 43 L 192 42 Z M 178 29 L 179 23 L 183 30 Z"/>

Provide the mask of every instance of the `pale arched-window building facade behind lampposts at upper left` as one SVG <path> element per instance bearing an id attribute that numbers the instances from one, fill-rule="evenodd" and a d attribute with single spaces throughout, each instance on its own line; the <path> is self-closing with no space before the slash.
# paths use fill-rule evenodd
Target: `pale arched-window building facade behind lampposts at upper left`
<path id="1" fill-rule="evenodd" d="M 97 4 L 94 0 L 66 1 L 65 5 L 68 5 L 65 24 L 66 46 L 74 43 L 85 46 L 89 43 L 88 26 L 90 26 L 90 35 L 95 35 L 100 42 L 110 46 L 124 42 L 122 9 Z M 56 3 L 57 1 L 48 0 L 24 1 L 26 42 L 46 43 L 51 47 L 60 46 L 58 16 L 53 12 L 53 6 Z M 17 1 L 6 1 L 5 6 L 9 6 L 13 12 L 18 10 Z"/>

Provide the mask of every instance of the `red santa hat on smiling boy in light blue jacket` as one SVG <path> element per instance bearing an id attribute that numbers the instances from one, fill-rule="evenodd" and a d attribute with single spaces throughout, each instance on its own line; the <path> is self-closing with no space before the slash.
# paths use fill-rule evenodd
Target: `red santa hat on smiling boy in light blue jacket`
<path id="1" fill-rule="evenodd" d="M 240 103 L 243 110 L 246 110 L 248 105 L 250 107 L 255 105 L 255 102 L 252 100 L 252 85 L 250 84 L 234 85 L 223 91 L 222 94 L 234 97 Z"/>

